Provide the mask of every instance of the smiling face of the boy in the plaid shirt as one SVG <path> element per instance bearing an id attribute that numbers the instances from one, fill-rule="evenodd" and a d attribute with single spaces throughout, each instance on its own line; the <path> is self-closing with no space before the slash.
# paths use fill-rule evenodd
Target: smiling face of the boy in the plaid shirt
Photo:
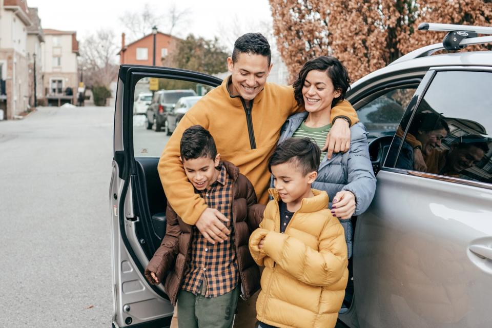
<path id="1" fill-rule="evenodd" d="M 193 159 L 183 159 L 183 168 L 186 176 L 197 190 L 205 190 L 217 181 L 219 171 L 215 169 L 219 165 L 220 154 L 212 159 L 207 156 Z"/>

